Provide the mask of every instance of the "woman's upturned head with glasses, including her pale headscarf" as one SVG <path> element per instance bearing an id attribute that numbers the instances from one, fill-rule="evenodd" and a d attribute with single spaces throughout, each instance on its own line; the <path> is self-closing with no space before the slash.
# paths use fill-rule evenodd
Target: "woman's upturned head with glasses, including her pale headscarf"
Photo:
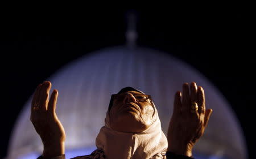
<path id="1" fill-rule="evenodd" d="M 151 97 L 132 87 L 113 94 L 96 146 L 112 159 L 163 158 L 168 142 Z"/>

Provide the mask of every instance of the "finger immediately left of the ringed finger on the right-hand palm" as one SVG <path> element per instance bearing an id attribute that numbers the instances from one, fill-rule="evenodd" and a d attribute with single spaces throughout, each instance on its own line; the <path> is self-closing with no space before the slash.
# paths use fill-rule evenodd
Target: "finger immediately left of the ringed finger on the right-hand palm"
<path id="1" fill-rule="evenodd" d="M 191 102 L 190 102 L 190 96 L 189 96 L 189 85 L 188 83 L 183 84 L 183 93 L 182 93 L 182 112 L 189 113 L 191 108 Z"/>

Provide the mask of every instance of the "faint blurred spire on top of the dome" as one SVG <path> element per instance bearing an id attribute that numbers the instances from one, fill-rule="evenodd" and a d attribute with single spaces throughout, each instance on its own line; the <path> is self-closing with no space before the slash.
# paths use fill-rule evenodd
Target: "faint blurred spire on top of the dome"
<path id="1" fill-rule="evenodd" d="M 126 45 L 129 48 L 135 48 L 137 40 L 136 31 L 137 17 L 134 11 L 130 11 L 127 14 L 127 31 L 126 31 Z"/>

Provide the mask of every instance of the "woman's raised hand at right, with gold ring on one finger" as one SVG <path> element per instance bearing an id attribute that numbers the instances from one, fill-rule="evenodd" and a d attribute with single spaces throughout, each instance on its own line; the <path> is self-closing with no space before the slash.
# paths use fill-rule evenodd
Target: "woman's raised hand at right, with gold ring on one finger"
<path id="1" fill-rule="evenodd" d="M 198 108 L 198 109 L 197 109 Z M 168 151 L 192 156 L 192 148 L 204 134 L 212 109 L 205 109 L 204 89 L 195 82 L 183 84 L 183 93 L 177 91 L 174 111 L 168 128 Z"/>

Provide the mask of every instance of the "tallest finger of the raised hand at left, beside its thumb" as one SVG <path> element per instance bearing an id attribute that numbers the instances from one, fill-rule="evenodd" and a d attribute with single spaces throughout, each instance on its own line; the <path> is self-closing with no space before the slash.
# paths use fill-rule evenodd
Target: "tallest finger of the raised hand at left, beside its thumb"
<path id="1" fill-rule="evenodd" d="M 44 81 L 42 85 L 42 89 L 40 90 L 40 109 L 41 110 L 47 110 L 47 104 L 48 104 L 48 97 L 49 97 L 49 90 L 51 89 L 51 82 Z"/>

